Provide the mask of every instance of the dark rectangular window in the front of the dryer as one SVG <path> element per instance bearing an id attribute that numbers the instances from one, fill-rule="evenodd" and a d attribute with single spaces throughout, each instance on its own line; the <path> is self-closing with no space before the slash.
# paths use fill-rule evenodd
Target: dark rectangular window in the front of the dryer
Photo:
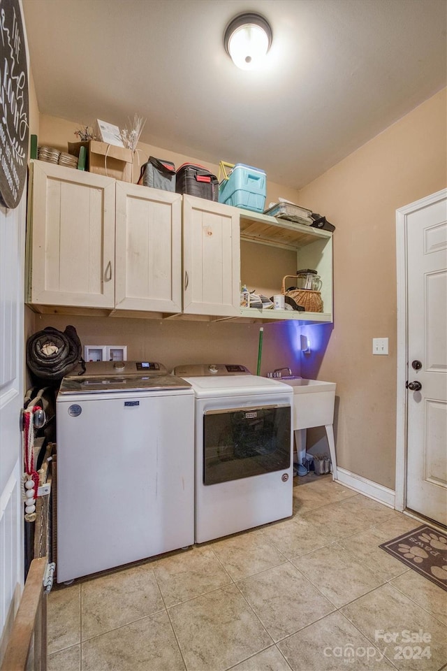
<path id="1" fill-rule="evenodd" d="M 291 406 L 209 410 L 203 416 L 203 483 L 291 466 Z"/>

